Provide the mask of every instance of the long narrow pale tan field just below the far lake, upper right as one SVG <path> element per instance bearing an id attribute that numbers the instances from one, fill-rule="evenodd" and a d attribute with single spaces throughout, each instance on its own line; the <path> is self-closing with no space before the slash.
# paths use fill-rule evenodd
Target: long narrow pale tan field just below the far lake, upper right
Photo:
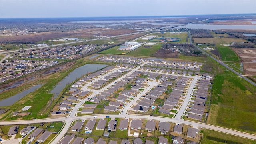
<path id="1" fill-rule="evenodd" d="M 247 42 L 247 40 L 238 38 L 193 38 L 195 43 L 201 44 L 231 44 L 231 42 Z"/>

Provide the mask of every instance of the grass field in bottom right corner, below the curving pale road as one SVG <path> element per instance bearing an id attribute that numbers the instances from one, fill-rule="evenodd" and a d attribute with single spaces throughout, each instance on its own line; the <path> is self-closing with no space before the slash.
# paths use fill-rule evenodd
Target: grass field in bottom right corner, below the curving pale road
<path id="1" fill-rule="evenodd" d="M 204 129 L 200 144 L 256 144 L 256 141 L 222 132 Z"/>

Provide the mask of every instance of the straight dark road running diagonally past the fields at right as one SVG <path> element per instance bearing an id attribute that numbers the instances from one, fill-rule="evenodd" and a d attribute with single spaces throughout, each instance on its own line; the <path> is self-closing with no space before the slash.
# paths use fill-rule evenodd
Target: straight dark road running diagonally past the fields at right
<path id="1" fill-rule="evenodd" d="M 189 38 L 190 38 L 190 44 L 192 44 L 192 40 L 191 40 L 191 33 L 190 31 L 188 32 L 189 34 Z M 242 74 L 239 74 L 238 72 L 236 72 L 235 70 L 233 70 L 232 68 L 228 67 L 226 64 L 224 64 L 222 61 L 217 60 L 216 58 L 214 58 L 213 56 L 211 56 L 210 54 L 206 53 L 205 51 L 201 50 L 200 48 L 197 47 L 198 50 L 200 50 L 202 53 L 206 54 L 207 56 L 209 56 L 210 58 L 212 58 L 213 60 L 215 60 L 216 62 L 218 62 L 219 64 L 221 64 L 222 66 L 224 66 L 225 68 L 227 68 L 228 70 L 234 72 L 235 74 L 237 74 L 238 76 L 240 76 L 241 78 L 243 78 L 244 80 L 246 80 L 247 82 L 249 82 L 250 84 L 256 86 L 256 83 L 252 82 L 251 80 L 249 80 L 248 78 L 242 76 Z"/>

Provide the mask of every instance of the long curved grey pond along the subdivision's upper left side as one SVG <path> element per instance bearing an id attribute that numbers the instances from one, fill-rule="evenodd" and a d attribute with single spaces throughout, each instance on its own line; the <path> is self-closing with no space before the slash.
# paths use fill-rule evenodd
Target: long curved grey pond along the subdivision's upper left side
<path id="1" fill-rule="evenodd" d="M 51 91 L 54 94 L 54 98 L 60 94 L 60 92 L 65 88 L 67 84 L 70 84 L 74 80 L 81 78 L 83 75 L 88 74 L 90 72 L 95 72 L 100 70 L 108 65 L 106 64 L 86 64 L 79 68 L 76 68 L 73 72 L 71 72 L 68 76 L 66 76 L 63 80 L 61 80 Z"/>

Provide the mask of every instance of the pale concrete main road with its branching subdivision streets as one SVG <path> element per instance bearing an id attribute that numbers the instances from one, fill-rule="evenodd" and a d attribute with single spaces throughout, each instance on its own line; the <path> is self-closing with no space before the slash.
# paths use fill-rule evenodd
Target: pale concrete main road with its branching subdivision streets
<path id="1" fill-rule="evenodd" d="M 126 73 L 124 76 L 121 76 L 120 78 L 117 78 L 116 80 L 114 80 L 113 82 L 111 82 L 110 84 L 108 84 L 108 86 L 111 86 L 112 84 L 114 84 L 115 82 L 118 82 L 119 80 L 121 80 L 122 78 L 128 76 L 129 74 L 132 74 L 135 71 L 140 71 L 139 68 L 141 66 L 143 66 L 146 63 L 141 64 L 140 66 L 136 67 L 135 69 L 130 69 L 130 71 L 128 73 Z M 116 70 L 114 70 L 113 72 L 115 72 Z M 111 74 L 112 72 L 105 74 L 103 76 L 108 76 L 109 74 Z M 158 72 L 159 74 L 161 74 L 160 72 Z M 89 82 L 88 84 L 86 84 L 82 89 L 83 90 L 89 90 L 88 86 L 90 84 L 92 84 L 93 82 L 98 81 L 99 79 L 103 78 L 103 76 L 96 78 L 95 80 L 93 80 L 92 82 Z M 189 77 L 189 76 L 186 76 Z M 159 120 L 160 122 L 175 122 L 175 123 L 180 123 L 180 124 L 187 124 L 190 126 L 193 126 L 194 128 L 207 128 L 210 130 L 216 130 L 219 132 L 224 132 L 227 134 L 232 134 L 234 136 L 240 136 L 240 137 L 244 137 L 244 138 L 250 138 L 253 140 L 256 140 L 256 135 L 254 134 L 249 134 L 249 133 L 245 133 L 245 132 L 240 132 L 240 131 L 236 131 L 236 130 L 231 130 L 228 128 L 222 128 L 219 126 L 213 126 L 210 124 L 204 124 L 204 123 L 200 123 L 200 122 L 192 122 L 192 121 L 187 121 L 187 120 L 183 120 L 182 116 L 184 114 L 184 111 L 186 110 L 186 107 L 190 101 L 190 93 L 192 92 L 192 90 L 194 89 L 194 85 L 196 84 L 196 81 L 200 79 L 200 77 L 193 77 L 193 80 L 190 82 L 190 86 L 188 88 L 188 92 L 186 95 L 185 100 L 183 101 L 182 107 L 180 108 L 180 110 L 178 111 L 178 113 L 176 114 L 175 118 L 166 118 L 166 117 L 161 117 L 161 116 L 146 116 L 146 115 L 136 115 L 136 114 L 128 114 L 128 110 L 130 109 L 130 107 L 141 98 L 142 95 L 146 94 L 146 92 L 150 89 L 152 89 L 153 86 L 158 85 L 158 82 L 155 81 L 148 81 L 148 87 L 140 92 L 140 94 L 138 94 L 134 100 L 130 100 L 129 103 L 126 104 L 126 106 L 124 107 L 123 112 L 120 112 L 119 114 L 100 114 L 97 115 L 97 118 L 106 118 L 106 116 L 110 116 L 110 118 L 140 118 L 140 119 L 148 119 L 148 120 Z M 96 96 L 97 94 L 99 94 L 100 92 L 102 92 L 103 90 L 105 90 L 106 88 L 108 88 L 108 86 L 105 86 L 104 88 L 100 89 L 100 90 L 91 90 L 94 93 L 91 94 L 88 98 L 92 98 L 94 96 Z M 56 122 L 56 121 L 63 121 L 65 122 L 65 125 L 62 129 L 61 132 L 59 132 L 58 136 L 56 136 L 56 138 L 54 140 L 52 140 L 51 144 L 57 144 L 66 134 L 66 132 L 68 132 L 70 126 L 72 125 L 72 122 L 74 120 L 86 120 L 86 119 L 92 119 L 94 118 L 95 115 L 90 115 L 90 116 L 77 116 L 77 110 L 82 106 L 82 104 L 84 104 L 84 102 L 87 101 L 87 98 L 81 100 L 80 102 L 78 102 L 78 104 L 76 104 L 73 108 L 72 111 L 70 112 L 69 116 L 65 117 L 65 118 L 46 118 L 46 119 L 38 119 L 38 120 L 17 120 L 17 121 L 0 121 L 1 125 L 14 125 L 14 124 L 33 124 L 33 123 L 42 123 L 42 122 Z"/>

